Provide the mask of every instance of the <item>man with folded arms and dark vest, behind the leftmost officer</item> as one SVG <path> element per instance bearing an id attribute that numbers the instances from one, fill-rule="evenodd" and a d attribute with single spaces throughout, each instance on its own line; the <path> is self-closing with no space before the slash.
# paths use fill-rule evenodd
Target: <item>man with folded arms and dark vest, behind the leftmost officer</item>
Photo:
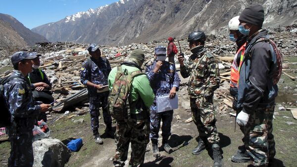
<path id="1" fill-rule="evenodd" d="M 37 56 L 33 59 L 32 71 L 28 74 L 27 80 L 31 85 L 31 88 L 34 89 L 32 91 L 33 100 L 34 101 L 42 101 L 44 103 L 52 103 L 54 101 L 51 96 L 51 92 L 49 92 L 51 88 L 51 84 L 49 82 L 49 78 L 44 70 L 40 69 L 40 59 L 41 54 L 36 52 L 31 52 L 29 55 Z M 47 122 L 46 113 L 40 113 L 37 118 L 38 121 L 44 120 Z"/>

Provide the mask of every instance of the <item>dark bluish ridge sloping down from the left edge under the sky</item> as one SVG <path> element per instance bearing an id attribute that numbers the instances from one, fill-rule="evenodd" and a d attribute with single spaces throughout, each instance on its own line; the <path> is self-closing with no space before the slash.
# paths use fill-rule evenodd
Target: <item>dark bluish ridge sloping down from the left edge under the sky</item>
<path id="1" fill-rule="evenodd" d="M 28 43 L 28 45 L 33 46 L 35 42 L 47 42 L 48 40 L 38 34 L 31 32 L 30 29 L 26 28 L 22 23 L 16 20 L 14 17 L 0 13 L 0 19 L 4 22 L 10 24 L 10 26 Z"/>

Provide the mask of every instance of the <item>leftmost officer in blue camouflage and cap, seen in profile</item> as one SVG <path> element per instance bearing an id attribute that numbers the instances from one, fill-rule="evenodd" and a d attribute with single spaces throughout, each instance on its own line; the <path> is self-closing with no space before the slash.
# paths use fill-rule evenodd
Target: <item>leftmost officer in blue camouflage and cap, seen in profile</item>
<path id="1" fill-rule="evenodd" d="M 4 84 L 4 97 L 11 113 L 11 125 L 6 127 L 10 140 L 8 167 L 32 167 L 34 162 L 32 138 L 35 118 L 45 112 L 49 104 L 34 105 L 26 76 L 32 71 L 32 60 L 37 56 L 16 52 L 11 56 L 14 67 L 11 79 Z M 12 78 L 13 77 L 13 78 Z"/>

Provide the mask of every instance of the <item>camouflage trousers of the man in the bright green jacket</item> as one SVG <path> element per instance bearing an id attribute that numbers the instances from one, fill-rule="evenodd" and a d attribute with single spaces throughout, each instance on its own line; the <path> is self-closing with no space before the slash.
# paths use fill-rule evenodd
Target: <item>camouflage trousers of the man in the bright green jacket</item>
<path id="1" fill-rule="evenodd" d="M 131 159 L 129 167 L 140 167 L 144 164 L 146 147 L 149 142 L 149 120 L 116 123 L 115 145 L 116 152 L 113 165 L 123 167 L 128 157 L 129 144 L 131 142 Z"/>

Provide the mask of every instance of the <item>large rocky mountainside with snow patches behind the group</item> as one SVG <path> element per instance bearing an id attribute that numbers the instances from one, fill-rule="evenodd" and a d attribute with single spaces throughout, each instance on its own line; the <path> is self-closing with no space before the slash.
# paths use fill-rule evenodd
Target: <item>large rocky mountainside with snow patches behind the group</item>
<path id="1" fill-rule="evenodd" d="M 228 21 L 249 4 L 265 8 L 264 27 L 297 22 L 296 0 L 120 0 L 32 29 L 52 42 L 127 44 L 187 37 L 193 30 L 227 33 Z"/>

